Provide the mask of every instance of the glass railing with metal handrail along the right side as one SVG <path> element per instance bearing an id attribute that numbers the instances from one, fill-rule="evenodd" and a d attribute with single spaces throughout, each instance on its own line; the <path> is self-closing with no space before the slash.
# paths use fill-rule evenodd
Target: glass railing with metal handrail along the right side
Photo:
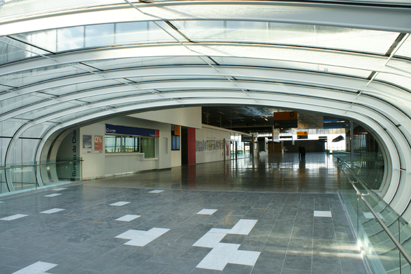
<path id="1" fill-rule="evenodd" d="M 350 169 L 351 162 L 336 163 L 351 183 L 338 191 L 373 273 L 411 273 L 410 225 Z"/>

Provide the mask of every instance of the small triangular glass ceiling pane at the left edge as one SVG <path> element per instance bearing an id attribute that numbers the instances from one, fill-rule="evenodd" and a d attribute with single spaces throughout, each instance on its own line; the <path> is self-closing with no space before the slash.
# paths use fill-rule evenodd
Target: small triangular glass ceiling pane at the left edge
<path id="1" fill-rule="evenodd" d="M 47 54 L 49 54 L 47 51 L 31 47 L 6 36 L 0 37 L 0 64 Z"/>

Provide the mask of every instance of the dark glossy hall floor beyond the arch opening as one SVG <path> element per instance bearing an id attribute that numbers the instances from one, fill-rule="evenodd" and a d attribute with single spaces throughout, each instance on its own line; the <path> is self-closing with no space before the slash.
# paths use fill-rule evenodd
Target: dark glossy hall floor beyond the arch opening
<path id="1" fill-rule="evenodd" d="M 88 185 L 146 187 L 191 190 L 240 190 L 300 193 L 335 193 L 341 182 L 332 155 L 297 153 L 273 157 L 248 158 L 179 166 L 161 171 L 143 171 L 137 175 L 108 177 Z"/>

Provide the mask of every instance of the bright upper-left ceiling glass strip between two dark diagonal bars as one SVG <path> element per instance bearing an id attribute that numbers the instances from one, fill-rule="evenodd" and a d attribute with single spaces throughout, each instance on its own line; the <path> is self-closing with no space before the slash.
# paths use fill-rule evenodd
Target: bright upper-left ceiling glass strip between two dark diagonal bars
<path id="1" fill-rule="evenodd" d="M 167 26 L 169 29 L 171 27 Z M 111 23 L 66 27 L 40 32 L 15 34 L 12 37 L 47 51 L 73 51 L 84 47 L 141 44 L 175 41 L 153 22 Z"/>

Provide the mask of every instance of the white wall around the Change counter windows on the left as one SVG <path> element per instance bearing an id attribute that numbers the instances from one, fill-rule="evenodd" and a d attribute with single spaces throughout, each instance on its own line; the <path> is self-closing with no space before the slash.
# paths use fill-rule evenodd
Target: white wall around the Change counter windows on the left
<path id="1" fill-rule="evenodd" d="M 136 116 L 144 116 L 145 119 L 138 119 Z M 169 123 L 151 121 L 148 120 L 149 117 L 155 120 L 168 121 Z M 171 117 L 175 117 L 176 120 L 172 121 Z M 160 137 L 155 138 L 155 158 L 146 159 L 144 153 L 105 153 L 104 136 L 106 123 L 127 127 L 159 129 Z M 198 125 L 201 125 L 201 108 L 160 110 L 144 114 L 133 114 L 132 116 L 118 117 L 81 127 L 77 136 L 77 147 L 79 157 L 84 160 L 82 164 L 83 179 L 181 166 L 181 150 L 171 151 L 171 124 L 198 127 Z M 224 160 L 224 139 L 230 139 L 231 132 L 234 131 L 209 125 L 201 125 L 199 129 L 196 128 L 196 162 Z M 90 153 L 84 151 L 82 147 L 84 135 L 92 136 L 92 151 Z M 95 136 L 103 136 L 102 153 L 96 153 L 95 151 Z"/>

